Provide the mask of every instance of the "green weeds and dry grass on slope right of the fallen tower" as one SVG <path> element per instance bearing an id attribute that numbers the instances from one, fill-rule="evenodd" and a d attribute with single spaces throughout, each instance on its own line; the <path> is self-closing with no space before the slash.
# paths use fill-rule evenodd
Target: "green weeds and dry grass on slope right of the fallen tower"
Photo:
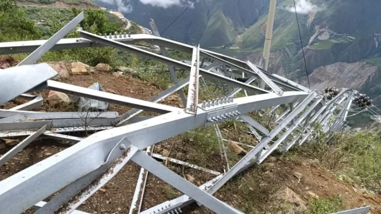
<path id="1" fill-rule="evenodd" d="M 381 139 L 378 133 L 336 133 L 326 142 L 326 134 L 316 129 L 314 140 L 297 149 L 322 166 L 343 174 L 346 180 L 381 191 Z"/>

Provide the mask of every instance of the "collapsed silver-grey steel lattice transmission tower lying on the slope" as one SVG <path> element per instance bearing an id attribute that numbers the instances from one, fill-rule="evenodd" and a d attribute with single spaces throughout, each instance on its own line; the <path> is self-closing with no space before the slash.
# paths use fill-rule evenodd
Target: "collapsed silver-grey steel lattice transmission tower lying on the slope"
<path id="1" fill-rule="evenodd" d="M 0 72 L 0 104 L 16 97 L 29 100 L 21 106 L 0 110 L 0 137 L 28 136 L 0 157 L 0 165 L 10 160 L 40 135 L 76 143 L 0 181 L 1 213 L 19 214 L 35 207 L 39 208 L 36 214 L 84 214 L 76 210 L 78 206 L 110 181 L 128 161 L 133 161 L 142 167 L 129 213 L 178 214 L 182 212 L 183 207 L 192 202 L 197 202 L 219 214 L 242 213 L 218 200 L 213 194 L 240 172 L 255 163 L 261 163 L 276 149 L 288 151 L 296 144 L 302 145 L 313 136 L 316 124 L 320 124 L 324 132 L 342 130 L 347 109 L 354 99 L 354 94 L 357 93 L 354 90 L 341 89 L 337 96 L 328 101 L 322 91 L 310 90 L 276 74 L 270 75 L 250 61 L 241 61 L 161 38 L 157 34 L 154 22 L 151 22 L 154 35 L 99 36 L 79 30 L 81 38 L 62 39 L 82 19 L 83 13 L 46 41 L 0 43 L 0 54 L 33 52 L 19 66 Z M 158 45 L 162 54 L 132 46 L 141 41 Z M 57 75 L 57 72 L 48 64 L 34 64 L 49 50 L 88 47 L 113 47 L 163 62 L 168 65 L 175 85 L 149 101 L 143 101 L 50 80 Z M 170 58 L 166 48 L 191 53 L 190 64 Z M 200 57 L 208 59 L 210 63 L 203 64 Z M 179 81 L 174 67 L 190 71 L 189 77 Z M 237 74 L 244 75 L 238 79 Z M 199 101 L 200 78 L 222 83 L 227 88 L 228 94 L 223 98 Z M 264 81 L 267 88 L 261 89 L 252 85 L 258 80 Z M 189 87 L 187 97 L 183 91 L 186 86 Z M 42 97 L 26 93 L 41 89 L 124 105 L 133 109 L 122 115 L 117 112 L 101 114 L 91 112 L 88 116 L 93 120 L 87 124 L 88 127 L 84 127 L 85 124 L 79 119 L 80 115 L 77 112 L 29 111 L 41 105 Z M 236 98 L 235 96 L 242 90 L 246 95 L 247 92 L 253 95 Z M 158 104 L 176 92 L 184 97 L 185 108 Z M 248 114 L 264 111 L 266 108 L 270 109 L 265 113 L 271 114 L 280 106 L 288 108 L 275 118 L 276 127 L 272 130 L 268 130 Z M 143 110 L 160 115 L 136 116 Z M 154 144 L 201 126 L 215 126 L 220 141 L 216 143 L 222 144 L 223 147 L 224 139 L 218 124 L 228 119 L 245 122 L 258 139 L 258 143 L 252 146 L 252 150 L 234 166 L 227 166 L 226 172 L 220 173 L 171 159 L 179 164 L 216 175 L 209 182 L 197 187 L 154 159 L 167 159 L 152 154 Z M 332 120 L 333 125 L 330 123 Z M 98 132 L 84 139 L 61 134 L 82 132 L 85 128 Z M 280 137 L 273 141 L 277 135 Z M 145 183 L 142 173 L 144 169 L 183 192 L 184 195 L 141 211 L 144 193 L 142 189 Z M 43 201 L 59 190 L 60 193 L 50 201 Z"/>

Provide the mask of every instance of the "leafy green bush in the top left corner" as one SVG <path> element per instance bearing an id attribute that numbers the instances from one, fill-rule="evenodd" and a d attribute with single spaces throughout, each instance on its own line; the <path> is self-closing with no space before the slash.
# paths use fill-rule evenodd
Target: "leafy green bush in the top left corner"
<path id="1" fill-rule="evenodd" d="M 16 0 L 0 0 L 0 42 L 34 40 L 41 37 L 34 22 L 26 19 Z"/>

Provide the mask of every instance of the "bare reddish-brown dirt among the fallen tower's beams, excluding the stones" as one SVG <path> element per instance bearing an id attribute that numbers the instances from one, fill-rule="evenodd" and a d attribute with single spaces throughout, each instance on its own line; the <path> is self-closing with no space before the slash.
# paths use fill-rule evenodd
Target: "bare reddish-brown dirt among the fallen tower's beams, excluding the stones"
<path id="1" fill-rule="evenodd" d="M 73 85 L 88 87 L 95 82 L 99 82 L 105 90 L 112 90 L 116 94 L 129 96 L 133 98 L 148 100 L 157 95 L 160 91 L 153 85 L 144 81 L 134 79 L 130 76 L 115 76 L 110 73 L 95 72 L 87 76 L 71 76 L 63 82 Z M 47 98 L 48 91 L 42 91 L 44 99 Z M 23 103 L 22 100 L 8 102 L 1 108 L 14 107 Z M 167 98 L 164 103 L 183 107 L 178 95 Z M 126 112 L 129 107 L 110 105 L 111 111 L 119 113 Z M 32 110 L 58 111 L 60 108 L 51 107 L 49 103 L 44 102 L 44 106 Z M 22 140 L 22 138 L 20 138 Z M 237 139 L 238 140 L 238 139 Z M 3 180 L 12 174 L 15 174 L 38 161 L 52 156 L 72 144 L 62 141 L 56 141 L 47 138 L 39 138 L 27 146 L 22 152 L 17 154 L 7 164 L 0 166 L 0 180 Z M 5 154 L 12 147 L 0 143 L 0 154 Z M 157 149 L 159 148 L 159 150 Z M 177 158 L 192 163 L 194 155 L 199 152 L 192 146 L 191 141 L 184 141 L 181 136 L 168 139 L 158 144 L 155 153 L 162 154 L 162 150 L 170 151 L 170 157 Z M 182 153 L 181 157 L 177 154 Z M 201 165 L 215 171 L 223 171 L 223 164 L 219 154 L 201 154 L 206 155 L 210 161 Z M 165 161 L 163 164 L 166 164 Z M 215 175 L 206 172 L 182 167 L 168 162 L 168 167 L 181 176 L 190 174 L 195 178 L 193 183 L 200 185 L 212 179 Z M 102 191 L 98 191 L 90 197 L 79 208 L 92 214 L 127 214 L 132 196 L 134 193 L 137 177 L 140 167 L 134 163 L 128 163 Z M 298 182 L 294 176 L 299 172 L 303 177 Z M 270 157 L 260 166 L 254 166 L 236 178 L 228 182 L 215 196 L 220 200 L 250 213 L 250 205 L 256 204 L 255 209 L 259 213 L 266 213 L 269 206 L 273 206 L 274 199 L 272 195 L 280 188 L 287 186 L 297 193 L 303 200 L 308 201 L 307 192 L 311 191 L 319 197 L 332 197 L 341 195 L 345 206 L 349 208 L 358 208 L 364 205 L 372 206 L 373 214 L 381 214 L 381 196 L 367 195 L 356 190 L 348 183 L 336 179 L 335 175 L 303 157 Z M 182 193 L 172 188 L 156 176 L 149 174 L 147 185 L 144 192 L 144 201 L 142 210 L 148 209 L 154 205 L 174 199 L 181 196 Z M 27 214 L 33 213 L 28 210 Z M 198 208 L 196 205 L 189 206 L 183 210 L 183 213 L 203 214 L 212 213 L 208 209 Z"/>

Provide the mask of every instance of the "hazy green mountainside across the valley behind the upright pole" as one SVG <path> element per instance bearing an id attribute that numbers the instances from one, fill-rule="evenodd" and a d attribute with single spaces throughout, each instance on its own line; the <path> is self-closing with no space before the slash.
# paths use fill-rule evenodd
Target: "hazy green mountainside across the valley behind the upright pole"
<path id="1" fill-rule="evenodd" d="M 125 16 L 143 26 L 149 27 L 149 18 L 154 19 L 161 32 L 166 29 L 164 37 L 199 43 L 203 48 L 245 60 L 258 61 L 262 55 L 268 0 L 196 0 L 168 29 L 190 1 L 114 1 L 128 5 Z M 113 1 L 96 2 L 120 9 Z M 296 4 L 312 86 L 345 87 L 346 82 L 357 81 L 359 84 L 353 87 L 381 104 L 381 1 L 296 0 Z M 277 1 L 269 71 L 306 83 L 293 0 Z M 314 78 L 317 75 L 321 77 Z"/>

